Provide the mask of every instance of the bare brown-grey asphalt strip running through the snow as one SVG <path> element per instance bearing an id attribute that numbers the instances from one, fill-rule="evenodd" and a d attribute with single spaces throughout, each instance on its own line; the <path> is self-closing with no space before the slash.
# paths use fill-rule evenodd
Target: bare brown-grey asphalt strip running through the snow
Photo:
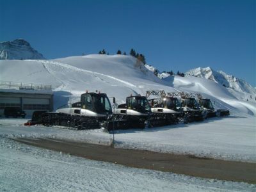
<path id="1" fill-rule="evenodd" d="M 61 151 L 73 156 L 107 161 L 134 168 L 256 184 L 255 163 L 166 154 L 148 150 L 114 148 L 52 138 L 17 138 L 14 140 L 36 147 Z"/>

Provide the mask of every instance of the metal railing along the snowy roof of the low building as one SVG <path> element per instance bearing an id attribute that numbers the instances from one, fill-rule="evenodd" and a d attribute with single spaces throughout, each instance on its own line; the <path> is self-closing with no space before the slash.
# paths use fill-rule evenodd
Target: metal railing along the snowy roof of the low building
<path id="1" fill-rule="evenodd" d="M 15 90 L 52 90 L 49 84 L 19 83 L 12 81 L 0 81 L 0 88 Z"/>

